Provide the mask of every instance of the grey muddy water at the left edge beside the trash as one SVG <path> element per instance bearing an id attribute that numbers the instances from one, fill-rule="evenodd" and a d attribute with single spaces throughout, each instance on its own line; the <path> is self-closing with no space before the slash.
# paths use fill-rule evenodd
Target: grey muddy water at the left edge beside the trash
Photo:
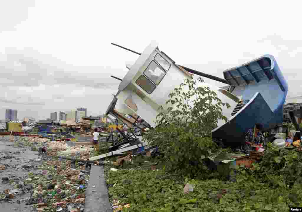
<path id="1" fill-rule="evenodd" d="M 9 140 L 9 136 L 0 136 L 0 165 L 6 166 L 4 171 L 0 171 L 0 193 L 3 193 L 5 189 L 14 189 L 9 183 L 2 181 L 2 178 L 7 177 L 18 183 L 28 178 L 29 172 L 39 171 L 36 168 L 30 168 L 31 165 L 40 164 L 38 152 L 22 147 L 19 136 L 14 137 L 14 142 L 12 142 Z M 19 146 L 17 146 L 18 144 Z M 25 205 L 25 200 L 30 195 L 31 191 L 28 191 L 28 193 L 16 195 L 11 200 L 0 201 L 0 211 L 34 211 L 32 205 Z"/>

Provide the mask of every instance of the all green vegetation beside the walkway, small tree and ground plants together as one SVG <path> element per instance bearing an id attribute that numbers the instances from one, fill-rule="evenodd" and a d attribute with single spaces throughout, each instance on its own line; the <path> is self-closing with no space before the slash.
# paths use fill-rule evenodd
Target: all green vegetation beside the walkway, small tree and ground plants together
<path id="1" fill-rule="evenodd" d="M 197 88 L 196 80 L 186 80 L 169 98 L 168 113 L 159 114 L 159 126 L 146 137 L 163 157 L 139 156 L 117 171 L 105 167 L 111 201 L 116 206 L 130 204 L 122 211 L 284 212 L 289 206 L 302 207 L 299 148 L 268 144 L 260 163 L 236 168 L 236 182 L 222 180 L 221 173 L 207 168 L 203 158 L 230 151 L 221 150 L 211 134 L 218 119 L 227 120 L 221 107 L 229 105 L 209 88 Z M 186 184 L 193 191 L 185 193 Z"/>

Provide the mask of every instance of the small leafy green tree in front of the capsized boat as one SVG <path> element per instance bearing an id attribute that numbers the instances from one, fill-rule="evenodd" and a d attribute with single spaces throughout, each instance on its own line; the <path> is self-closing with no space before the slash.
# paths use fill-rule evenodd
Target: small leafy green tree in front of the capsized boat
<path id="1" fill-rule="evenodd" d="M 203 82 L 201 78 L 197 80 Z M 175 88 L 166 105 L 167 111 L 157 116 L 157 127 L 150 130 L 145 139 L 153 141 L 164 153 L 166 170 L 177 170 L 189 177 L 205 173 L 201 159 L 218 149 L 211 131 L 219 119 L 227 121 L 222 106 L 230 105 L 222 103 L 209 87 L 197 87 L 193 79 L 186 79 Z"/>

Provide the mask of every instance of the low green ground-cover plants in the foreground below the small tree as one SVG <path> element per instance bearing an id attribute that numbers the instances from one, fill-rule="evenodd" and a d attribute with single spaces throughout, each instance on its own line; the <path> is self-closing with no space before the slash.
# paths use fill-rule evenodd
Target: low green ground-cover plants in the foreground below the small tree
<path id="1" fill-rule="evenodd" d="M 260 212 L 289 211 L 302 206 L 301 188 L 270 188 L 267 183 L 219 180 L 179 179 L 165 171 L 108 171 L 106 182 L 111 201 L 118 200 L 122 211 L 219 211 Z M 194 190 L 184 194 L 185 184 Z"/>

